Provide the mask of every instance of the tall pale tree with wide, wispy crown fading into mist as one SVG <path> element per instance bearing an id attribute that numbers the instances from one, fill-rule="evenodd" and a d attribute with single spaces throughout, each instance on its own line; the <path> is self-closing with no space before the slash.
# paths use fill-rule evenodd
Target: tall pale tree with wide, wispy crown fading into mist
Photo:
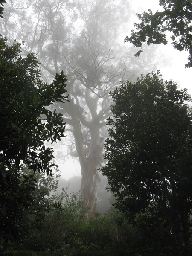
<path id="1" fill-rule="evenodd" d="M 133 72 L 140 72 L 140 63 L 131 63 L 131 53 L 119 50 L 128 1 L 79 0 L 76 6 L 70 0 L 37 0 L 32 5 L 26 1 L 26 6 L 16 3 L 10 0 L 6 8 L 3 31 L 7 37 L 22 38 L 24 50 L 37 52 L 45 79 L 49 80 L 55 70 L 67 73 L 70 102 L 57 104 L 57 108 L 64 113 L 67 131 L 74 137 L 70 154 L 79 158 L 81 197 L 91 215 L 96 207 L 97 169 L 110 115 L 108 92 L 121 79 L 132 76 L 128 65 Z M 75 27 L 76 21 L 81 25 Z"/>

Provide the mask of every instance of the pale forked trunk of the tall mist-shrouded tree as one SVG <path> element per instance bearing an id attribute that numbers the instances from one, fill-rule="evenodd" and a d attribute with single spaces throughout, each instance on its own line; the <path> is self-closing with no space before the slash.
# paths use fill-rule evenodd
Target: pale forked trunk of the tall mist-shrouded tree
<path id="1" fill-rule="evenodd" d="M 88 96 L 87 96 L 88 97 Z M 68 122 L 73 127 L 73 135 L 76 142 L 76 151 L 81 166 L 81 199 L 84 207 L 88 208 L 86 215 L 91 217 L 96 210 L 97 187 L 100 181 L 99 163 L 102 160 L 103 138 L 100 137 L 100 128 L 103 124 L 100 123 L 95 109 L 95 118 L 92 121 L 86 121 L 76 109 L 76 104 L 70 99 L 67 111 L 72 119 L 64 121 Z M 90 130 L 90 145 L 89 153 L 86 155 L 84 148 L 84 139 L 82 136 L 81 123 L 86 125 Z"/>

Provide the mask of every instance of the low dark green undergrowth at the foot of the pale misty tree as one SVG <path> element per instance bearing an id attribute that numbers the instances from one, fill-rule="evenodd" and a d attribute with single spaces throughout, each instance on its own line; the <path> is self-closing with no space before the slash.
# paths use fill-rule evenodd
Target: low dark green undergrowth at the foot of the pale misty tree
<path id="1" fill-rule="evenodd" d="M 38 177 L 38 180 L 40 184 L 41 177 Z M 44 184 L 43 181 L 41 185 L 44 187 Z M 47 185 L 51 184 L 48 180 Z M 42 186 L 38 188 L 40 191 L 44 191 Z M 94 218 L 86 218 L 83 214 L 85 209 L 78 197 L 73 193 L 68 195 L 65 190 L 61 195 L 48 197 L 49 212 L 44 214 L 38 226 L 26 232 L 23 239 L 9 241 L 4 256 L 135 256 L 137 252 L 142 254 L 146 240 L 142 225 L 139 229 L 127 224 L 122 213 L 113 208 L 105 218 L 102 218 L 99 212 L 96 212 Z M 55 203 L 51 205 L 51 202 Z M 29 215 L 29 222 L 30 218 Z"/>

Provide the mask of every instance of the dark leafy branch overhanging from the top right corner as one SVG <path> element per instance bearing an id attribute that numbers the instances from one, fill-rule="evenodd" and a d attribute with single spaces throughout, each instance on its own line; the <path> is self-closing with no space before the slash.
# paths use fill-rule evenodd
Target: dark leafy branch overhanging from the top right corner
<path id="1" fill-rule="evenodd" d="M 135 23 L 135 29 L 125 41 L 136 47 L 147 44 L 167 44 L 166 31 L 172 32 L 172 44 L 178 51 L 189 51 L 189 62 L 186 67 L 192 67 L 192 1 L 191 0 L 160 0 L 163 11 L 152 13 L 150 9 L 143 14 L 137 14 L 141 23 Z M 142 50 L 136 53 L 139 56 Z"/>

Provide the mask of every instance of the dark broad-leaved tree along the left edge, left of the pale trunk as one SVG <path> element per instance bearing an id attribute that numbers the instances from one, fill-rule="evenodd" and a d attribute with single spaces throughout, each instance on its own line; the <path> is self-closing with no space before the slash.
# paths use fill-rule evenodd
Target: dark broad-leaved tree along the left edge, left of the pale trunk
<path id="1" fill-rule="evenodd" d="M 44 142 L 60 140 L 65 130 L 62 115 L 46 107 L 66 100 L 66 76 L 45 84 L 35 55 L 19 54 L 20 44 L 8 46 L 0 36 L 0 236 L 6 241 L 21 235 L 23 216 L 36 205 L 33 173 L 51 174 L 55 166 L 53 148 Z"/>

